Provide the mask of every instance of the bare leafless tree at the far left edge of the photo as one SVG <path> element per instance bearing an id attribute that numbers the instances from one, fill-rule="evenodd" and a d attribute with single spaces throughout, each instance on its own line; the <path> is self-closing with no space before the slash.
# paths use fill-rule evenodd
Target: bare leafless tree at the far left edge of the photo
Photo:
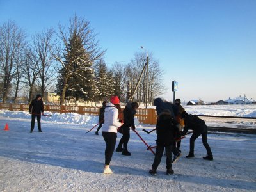
<path id="1" fill-rule="evenodd" d="M 24 42 L 24 31 L 15 22 L 8 20 L 0 27 L 0 73 L 3 81 L 3 102 L 6 101 L 12 80 L 17 74 L 15 59 L 19 45 Z"/>

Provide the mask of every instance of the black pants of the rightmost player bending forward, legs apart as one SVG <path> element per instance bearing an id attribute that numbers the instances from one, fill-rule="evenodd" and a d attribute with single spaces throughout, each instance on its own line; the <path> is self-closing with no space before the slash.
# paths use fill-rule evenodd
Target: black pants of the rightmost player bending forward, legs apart
<path id="1" fill-rule="evenodd" d="M 194 153 L 194 148 L 195 148 L 195 140 L 196 138 L 198 138 L 200 135 L 202 135 L 202 142 L 204 147 L 207 150 L 207 154 L 208 155 L 212 155 L 212 151 L 211 148 L 209 146 L 209 144 L 207 143 L 207 126 L 205 125 L 204 129 L 202 131 L 194 131 L 191 138 L 190 138 L 190 153 Z"/>

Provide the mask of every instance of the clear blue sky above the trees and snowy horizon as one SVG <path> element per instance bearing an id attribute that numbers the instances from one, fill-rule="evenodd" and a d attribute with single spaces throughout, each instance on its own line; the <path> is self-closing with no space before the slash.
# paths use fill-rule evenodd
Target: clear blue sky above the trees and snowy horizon
<path id="1" fill-rule="evenodd" d="M 29 35 L 76 14 L 90 21 L 105 61 L 129 61 L 141 45 L 164 70 L 166 100 L 206 102 L 246 95 L 256 100 L 256 1 L 0 0 L 0 22 Z M 125 63 L 125 62 L 124 62 Z"/>

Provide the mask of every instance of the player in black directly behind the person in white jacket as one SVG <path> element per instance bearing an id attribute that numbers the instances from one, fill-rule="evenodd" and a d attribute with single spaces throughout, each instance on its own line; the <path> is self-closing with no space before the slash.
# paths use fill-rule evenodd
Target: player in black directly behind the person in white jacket
<path id="1" fill-rule="evenodd" d="M 120 127 L 120 131 L 123 136 L 119 141 L 116 152 L 122 152 L 124 156 L 131 156 L 131 153 L 127 149 L 128 141 L 130 139 L 130 127 L 135 129 L 134 125 L 134 115 L 136 114 L 136 109 L 139 107 L 137 102 L 128 102 L 123 111 L 124 114 L 124 124 Z M 122 148 L 122 146 L 124 148 Z"/>

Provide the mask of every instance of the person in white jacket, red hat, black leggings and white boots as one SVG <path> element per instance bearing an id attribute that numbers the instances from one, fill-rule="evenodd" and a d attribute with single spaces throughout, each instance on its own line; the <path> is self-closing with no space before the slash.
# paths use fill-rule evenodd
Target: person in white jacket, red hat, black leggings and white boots
<path id="1" fill-rule="evenodd" d="M 117 129 L 122 126 L 123 123 L 118 120 L 118 109 L 115 105 L 119 104 L 120 100 L 117 96 L 112 96 L 110 102 L 108 102 L 104 113 L 104 124 L 102 126 L 102 136 L 106 142 L 105 149 L 105 166 L 103 173 L 113 173 L 109 167 L 113 152 L 115 150 Z"/>

